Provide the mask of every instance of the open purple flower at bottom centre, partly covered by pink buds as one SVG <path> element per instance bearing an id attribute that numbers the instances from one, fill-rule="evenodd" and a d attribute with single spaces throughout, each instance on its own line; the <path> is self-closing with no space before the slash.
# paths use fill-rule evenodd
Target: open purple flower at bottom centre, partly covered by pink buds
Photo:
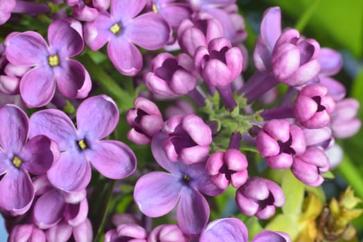
<path id="1" fill-rule="evenodd" d="M 205 162 L 185 165 L 171 161 L 165 155 L 162 144 L 167 136 L 159 132 L 151 142 L 152 154 L 164 169 L 152 171 L 139 178 L 134 189 L 134 200 L 143 214 L 151 217 L 163 216 L 177 205 L 177 221 L 184 234 L 199 234 L 209 218 L 209 205 L 200 194 L 209 196 L 222 193 L 206 174 Z"/>

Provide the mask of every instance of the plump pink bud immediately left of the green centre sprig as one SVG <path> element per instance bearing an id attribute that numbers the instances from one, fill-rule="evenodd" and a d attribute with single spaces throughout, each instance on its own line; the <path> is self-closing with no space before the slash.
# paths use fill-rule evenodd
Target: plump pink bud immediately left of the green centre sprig
<path id="1" fill-rule="evenodd" d="M 162 130 L 168 135 L 163 150 L 169 160 L 192 164 L 207 158 L 212 131 L 202 118 L 194 114 L 176 115 L 164 123 Z"/>

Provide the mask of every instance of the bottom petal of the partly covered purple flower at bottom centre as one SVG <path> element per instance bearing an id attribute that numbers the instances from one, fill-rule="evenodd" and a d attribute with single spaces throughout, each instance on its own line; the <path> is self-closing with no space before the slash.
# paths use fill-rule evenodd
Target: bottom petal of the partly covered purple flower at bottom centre
<path id="1" fill-rule="evenodd" d="M 195 189 L 184 187 L 177 208 L 177 221 L 184 234 L 200 234 L 209 219 L 206 198 Z"/>

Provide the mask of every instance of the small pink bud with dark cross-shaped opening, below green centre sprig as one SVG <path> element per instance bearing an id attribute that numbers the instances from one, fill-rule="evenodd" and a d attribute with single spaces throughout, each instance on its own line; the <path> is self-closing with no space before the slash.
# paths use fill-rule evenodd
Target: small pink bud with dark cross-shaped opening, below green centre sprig
<path id="1" fill-rule="evenodd" d="M 226 152 L 215 152 L 206 162 L 206 173 L 211 176 L 211 182 L 220 189 L 226 189 L 231 183 L 235 188 L 243 185 L 247 178 L 247 158 L 237 149 Z"/>

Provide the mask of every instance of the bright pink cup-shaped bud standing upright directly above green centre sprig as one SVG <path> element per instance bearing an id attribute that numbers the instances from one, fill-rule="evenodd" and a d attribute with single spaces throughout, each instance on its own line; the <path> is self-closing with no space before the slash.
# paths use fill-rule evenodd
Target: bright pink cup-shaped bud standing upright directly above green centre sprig
<path id="1" fill-rule="evenodd" d="M 242 71 L 242 53 L 223 37 L 212 39 L 208 48 L 200 46 L 195 50 L 194 64 L 206 84 L 227 86 Z"/>

